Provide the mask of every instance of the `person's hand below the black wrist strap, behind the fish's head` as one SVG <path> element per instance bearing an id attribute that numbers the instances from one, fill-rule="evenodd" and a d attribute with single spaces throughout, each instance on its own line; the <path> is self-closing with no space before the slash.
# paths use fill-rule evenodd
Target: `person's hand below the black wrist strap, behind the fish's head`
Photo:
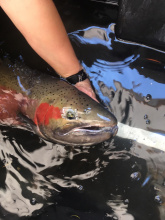
<path id="1" fill-rule="evenodd" d="M 78 82 L 75 84 L 75 87 L 80 90 L 81 92 L 84 92 L 85 94 L 87 94 L 88 96 L 90 96 L 92 99 L 94 99 L 96 102 L 99 102 L 96 99 L 96 95 L 95 92 L 92 89 L 91 83 L 89 81 L 89 79 L 86 79 L 82 82 Z"/>

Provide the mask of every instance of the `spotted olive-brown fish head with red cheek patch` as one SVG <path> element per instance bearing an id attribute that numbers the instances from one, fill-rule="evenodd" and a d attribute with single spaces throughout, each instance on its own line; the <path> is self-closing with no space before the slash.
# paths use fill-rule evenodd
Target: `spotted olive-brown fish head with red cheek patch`
<path id="1" fill-rule="evenodd" d="M 35 123 L 45 139 L 67 145 L 92 145 L 117 133 L 115 116 L 67 83 L 54 96 L 42 99 Z"/>

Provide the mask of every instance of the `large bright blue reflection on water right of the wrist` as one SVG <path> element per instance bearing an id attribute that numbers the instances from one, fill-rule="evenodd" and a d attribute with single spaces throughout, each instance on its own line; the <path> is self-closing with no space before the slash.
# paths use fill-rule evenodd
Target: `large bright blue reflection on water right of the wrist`
<path id="1" fill-rule="evenodd" d="M 142 96 L 146 96 L 147 94 L 151 94 L 154 99 L 164 99 L 165 93 L 164 84 L 158 83 L 151 78 L 146 78 L 143 75 L 140 75 L 137 69 L 131 69 L 129 66 L 123 66 L 122 72 L 119 72 L 120 68 L 111 67 L 111 63 L 107 61 L 97 60 L 94 62 L 91 67 L 87 67 L 85 64 L 84 68 L 87 70 L 89 75 L 91 76 L 91 80 L 94 86 L 99 89 L 97 81 L 103 81 L 106 86 L 112 87 L 116 90 L 114 81 L 118 81 L 122 83 L 123 88 L 132 90 L 138 94 L 142 94 Z M 106 64 L 105 64 L 106 63 Z M 100 69 L 101 74 L 97 75 L 97 81 L 93 76 L 93 72 L 98 72 Z"/>

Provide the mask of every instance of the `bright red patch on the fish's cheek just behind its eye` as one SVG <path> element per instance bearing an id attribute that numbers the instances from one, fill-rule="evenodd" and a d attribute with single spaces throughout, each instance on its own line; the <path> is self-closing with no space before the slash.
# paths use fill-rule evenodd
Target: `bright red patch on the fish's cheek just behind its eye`
<path id="1" fill-rule="evenodd" d="M 48 103 L 41 103 L 36 110 L 34 122 L 35 124 L 49 124 L 50 119 L 61 118 L 61 112 L 58 107 L 49 105 Z"/>

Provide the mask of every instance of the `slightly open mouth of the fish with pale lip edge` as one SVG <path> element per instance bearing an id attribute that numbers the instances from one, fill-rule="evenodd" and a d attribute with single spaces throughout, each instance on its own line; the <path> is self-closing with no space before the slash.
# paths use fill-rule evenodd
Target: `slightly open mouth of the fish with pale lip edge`
<path id="1" fill-rule="evenodd" d="M 118 132 L 118 126 L 117 125 L 113 127 L 84 126 L 84 127 L 74 128 L 70 132 L 71 133 L 74 132 L 75 135 L 98 135 L 99 133 L 100 134 L 111 133 L 113 136 L 115 136 Z"/>

